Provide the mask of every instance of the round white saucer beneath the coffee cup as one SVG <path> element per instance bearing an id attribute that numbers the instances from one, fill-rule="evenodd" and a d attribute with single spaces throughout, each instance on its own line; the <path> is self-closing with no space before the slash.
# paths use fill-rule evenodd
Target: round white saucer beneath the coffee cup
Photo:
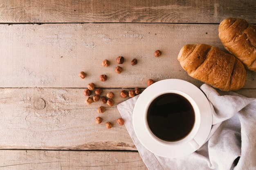
<path id="1" fill-rule="evenodd" d="M 148 131 L 146 131 L 146 126 L 144 124 L 144 112 L 146 105 L 152 99 L 154 94 L 166 91 L 166 90 L 179 90 L 191 96 L 195 100 L 199 107 L 201 114 L 201 124 L 196 133 L 194 139 L 198 143 L 200 148 L 206 141 L 212 124 L 212 112 L 209 101 L 203 92 L 198 89 L 195 85 L 179 80 L 179 79 L 166 79 L 158 81 L 153 85 L 150 85 L 144 90 L 139 96 L 134 110 L 133 110 L 133 127 L 134 131 L 143 146 L 145 146 L 150 152 L 168 158 L 177 158 L 189 155 L 198 148 L 193 148 L 189 143 L 178 145 L 178 146 L 167 146 L 157 142 L 153 137 L 150 136 Z"/>

